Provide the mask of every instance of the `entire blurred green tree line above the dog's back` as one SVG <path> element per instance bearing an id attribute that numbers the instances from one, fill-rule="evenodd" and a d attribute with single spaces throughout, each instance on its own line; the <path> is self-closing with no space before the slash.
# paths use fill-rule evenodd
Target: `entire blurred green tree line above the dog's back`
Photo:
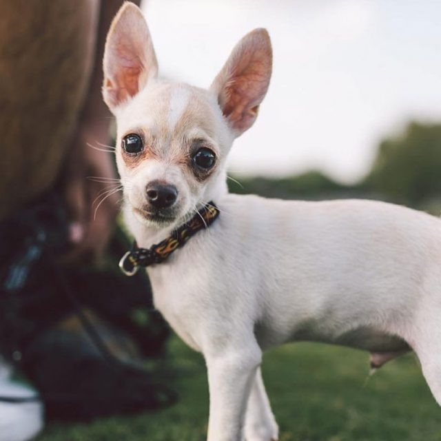
<path id="1" fill-rule="evenodd" d="M 371 171 L 354 185 L 311 170 L 285 178 L 229 181 L 232 192 L 286 199 L 373 198 L 426 209 L 441 208 L 441 124 L 411 122 L 398 136 L 384 139 Z"/>

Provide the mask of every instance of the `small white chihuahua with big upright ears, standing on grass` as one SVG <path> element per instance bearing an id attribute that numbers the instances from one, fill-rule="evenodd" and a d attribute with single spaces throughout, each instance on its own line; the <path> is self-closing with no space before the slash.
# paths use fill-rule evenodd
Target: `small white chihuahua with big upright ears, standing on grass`
<path id="1" fill-rule="evenodd" d="M 265 349 L 289 341 L 365 349 L 376 366 L 413 349 L 441 403 L 438 218 L 373 201 L 227 192 L 228 152 L 253 125 L 269 85 L 265 30 L 243 37 L 202 90 L 158 79 L 143 14 L 125 3 L 103 67 L 136 243 L 165 240 L 211 201 L 220 212 L 147 268 L 157 309 L 205 357 L 209 441 L 278 438 L 259 366 Z"/>

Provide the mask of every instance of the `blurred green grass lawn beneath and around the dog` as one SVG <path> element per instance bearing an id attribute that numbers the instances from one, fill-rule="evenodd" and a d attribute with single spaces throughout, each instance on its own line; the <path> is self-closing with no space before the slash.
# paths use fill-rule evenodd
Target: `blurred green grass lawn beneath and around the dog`
<path id="1" fill-rule="evenodd" d="M 176 338 L 170 362 L 181 399 L 173 407 L 92 424 L 53 424 L 38 441 L 205 441 L 205 364 Z M 439 441 L 441 409 L 415 356 L 392 360 L 368 379 L 367 353 L 298 343 L 265 355 L 263 376 L 280 441 Z"/>

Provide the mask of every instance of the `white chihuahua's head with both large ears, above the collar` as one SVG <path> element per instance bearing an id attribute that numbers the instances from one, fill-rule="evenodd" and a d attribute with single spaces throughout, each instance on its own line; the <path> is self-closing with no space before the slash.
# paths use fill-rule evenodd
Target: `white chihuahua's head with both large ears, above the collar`
<path id="1" fill-rule="evenodd" d="M 125 3 L 104 53 L 104 101 L 116 116 L 125 203 L 164 227 L 225 192 L 225 159 L 256 119 L 271 76 L 271 43 L 256 29 L 236 45 L 209 90 L 158 79 L 141 10 Z"/>

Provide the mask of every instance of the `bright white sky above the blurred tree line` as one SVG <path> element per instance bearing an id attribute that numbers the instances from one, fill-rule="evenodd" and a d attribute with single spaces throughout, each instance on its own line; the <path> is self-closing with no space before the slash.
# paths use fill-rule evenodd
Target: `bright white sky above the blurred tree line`
<path id="1" fill-rule="evenodd" d="M 439 0 L 147 0 L 160 74 L 207 88 L 238 40 L 267 28 L 271 85 L 229 170 L 362 178 L 384 136 L 441 122 Z"/>

